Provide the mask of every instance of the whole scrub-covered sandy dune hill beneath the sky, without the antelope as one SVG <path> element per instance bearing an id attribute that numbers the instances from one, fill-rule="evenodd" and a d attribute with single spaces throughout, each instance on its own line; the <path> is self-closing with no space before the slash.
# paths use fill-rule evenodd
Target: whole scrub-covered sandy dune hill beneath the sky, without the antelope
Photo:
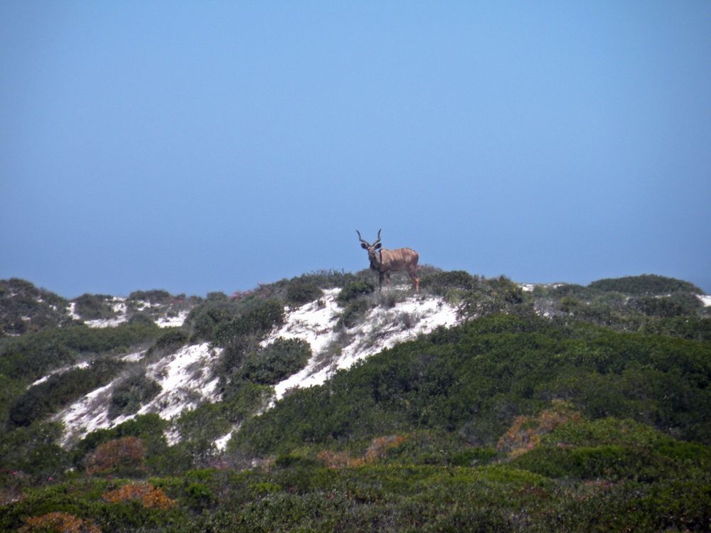
<path id="1" fill-rule="evenodd" d="M 0 339 L 0 527 L 707 529 L 702 291 L 394 281 L 70 302 L 1 282 L 40 307 Z"/>

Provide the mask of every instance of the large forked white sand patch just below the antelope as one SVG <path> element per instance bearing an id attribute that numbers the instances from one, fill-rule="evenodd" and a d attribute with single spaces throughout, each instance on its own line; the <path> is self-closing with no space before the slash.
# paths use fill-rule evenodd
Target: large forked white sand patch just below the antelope
<path id="1" fill-rule="evenodd" d="M 275 385 L 275 399 L 284 397 L 289 389 L 323 384 L 336 370 L 349 368 L 385 348 L 430 333 L 439 326 L 449 327 L 457 323 L 456 308 L 442 298 L 411 296 L 392 308 L 372 309 L 361 325 L 346 330 L 346 344 L 341 345 L 340 350 L 334 350 L 336 353 L 330 361 L 324 362 L 328 348 L 339 336 L 335 327 L 343 309 L 336 304 L 338 292 L 340 289 L 325 291 L 322 306 L 312 302 L 289 313 L 284 325 L 265 342 L 273 342 L 279 337 L 300 338 L 311 345 L 313 352 L 304 369 Z"/>

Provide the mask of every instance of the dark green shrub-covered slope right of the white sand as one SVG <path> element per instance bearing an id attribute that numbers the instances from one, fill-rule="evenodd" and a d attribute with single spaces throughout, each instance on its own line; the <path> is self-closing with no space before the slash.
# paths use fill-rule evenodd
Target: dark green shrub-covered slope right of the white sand
<path id="1" fill-rule="evenodd" d="M 513 417 L 565 399 L 587 416 L 631 418 L 711 443 L 711 344 L 543 318 L 488 316 L 370 357 L 248 422 L 237 448 L 284 453 L 304 443 L 421 429 L 491 446 Z"/>

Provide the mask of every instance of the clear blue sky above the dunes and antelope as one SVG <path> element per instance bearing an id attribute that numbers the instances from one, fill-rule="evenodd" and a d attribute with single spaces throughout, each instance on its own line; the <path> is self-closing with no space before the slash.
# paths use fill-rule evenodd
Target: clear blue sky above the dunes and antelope
<path id="1" fill-rule="evenodd" d="M 711 292 L 711 1 L 0 2 L 0 278 Z"/>

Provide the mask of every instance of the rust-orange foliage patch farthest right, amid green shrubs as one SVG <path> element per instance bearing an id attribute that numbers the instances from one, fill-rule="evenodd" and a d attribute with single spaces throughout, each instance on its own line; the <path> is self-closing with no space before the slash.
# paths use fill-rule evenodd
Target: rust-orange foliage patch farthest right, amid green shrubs
<path id="1" fill-rule="evenodd" d="M 554 401 L 552 409 L 541 411 L 535 418 L 517 416 L 508 431 L 498 440 L 496 449 L 508 451 L 513 456 L 520 456 L 538 446 L 542 435 L 550 433 L 560 424 L 578 421 L 581 418 L 580 414 L 570 409 L 566 402 Z"/>

